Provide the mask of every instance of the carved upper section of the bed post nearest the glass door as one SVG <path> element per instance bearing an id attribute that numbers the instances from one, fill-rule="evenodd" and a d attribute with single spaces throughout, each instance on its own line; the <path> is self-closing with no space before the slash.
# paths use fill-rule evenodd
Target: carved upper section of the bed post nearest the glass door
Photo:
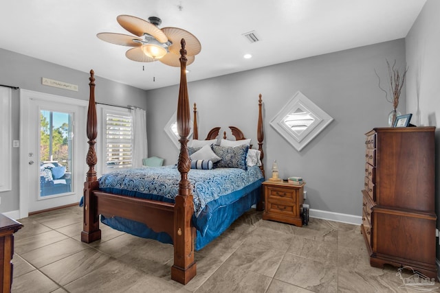
<path id="1" fill-rule="evenodd" d="M 90 97 L 89 97 L 89 109 L 87 110 L 87 138 L 89 141 L 89 151 L 87 152 L 86 163 L 89 165 L 89 171 L 87 172 L 87 181 L 96 181 L 96 171 L 95 165 L 98 161 L 96 159 L 95 152 L 95 139 L 97 135 L 97 124 L 98 120 L 96 118 L 96 104 L 95 104 L 95 72 L 93 69 L 90 71 Z"/>

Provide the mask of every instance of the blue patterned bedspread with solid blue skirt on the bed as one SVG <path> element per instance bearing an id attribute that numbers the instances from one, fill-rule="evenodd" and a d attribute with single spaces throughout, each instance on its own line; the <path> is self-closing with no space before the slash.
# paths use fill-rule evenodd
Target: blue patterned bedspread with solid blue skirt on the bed
<path id="1" fill-rule="evenodd" d="M 176 166 L 124 169 L 104 174 L 100 189 L 113 194 L 174 202 L 179 189 L 180 173 Z M 195 214 L 192 224 L 197 229 L 196 250 L 222 233 L 260 197 L 263 174 L 258 166 L 247 171 L 238 168 L 190 169 Z M 118 217 L 104 224 L 138 235 L 172 243 L 168 235 L 155 233 L 144 224 Z"/>

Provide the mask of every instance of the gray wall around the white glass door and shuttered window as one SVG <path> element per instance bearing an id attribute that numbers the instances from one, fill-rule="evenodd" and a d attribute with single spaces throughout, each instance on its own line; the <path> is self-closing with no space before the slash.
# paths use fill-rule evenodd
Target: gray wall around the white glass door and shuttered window
<path id="1" fill-rule="evenodd" d="M 19 86 L 21 89 L 39 91 L 74 99 L 89 99 L 89 73 L 76 71 L 29 56 L 0 48 L 0 84 Z M 93 64 L 90 65 L 93 69 Z M 95 72 L 97 102 L 126 106 L 128 104 L 146 109 L 146 92 L 141 89 L 99 78 Z M 78 84 L 78 92 L 43 86 L 41 78 L 51 78 L 70 84 Z M 12 91 L 12 140 L 19 139 L 19 91 Z M 11 143 L 1 141 L 1 143 Z M 87 145 L 87 138 L 84 138 Z M 12 191 L 0 192 L 0 213 L 19 209 L 19 148 L 12 148 Z M 85 158 L 83 159 L 85 162 Z"/>

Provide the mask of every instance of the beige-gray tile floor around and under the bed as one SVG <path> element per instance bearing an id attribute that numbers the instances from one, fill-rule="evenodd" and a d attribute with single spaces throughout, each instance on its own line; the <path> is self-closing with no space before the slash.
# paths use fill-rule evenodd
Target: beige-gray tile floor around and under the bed
<path id="1" fill-rule="evenodd" d="M 299 228 L 249 211 L 196 253 L 197 276 L 181 285 L 170 279 L 173 246 L 102 224 L 100 241 L 80 242 L 79 207 L 19 221 L 12 292 L 414 292 L 396 268 L 369 266 L 351 224 L 311 218 Z"/>

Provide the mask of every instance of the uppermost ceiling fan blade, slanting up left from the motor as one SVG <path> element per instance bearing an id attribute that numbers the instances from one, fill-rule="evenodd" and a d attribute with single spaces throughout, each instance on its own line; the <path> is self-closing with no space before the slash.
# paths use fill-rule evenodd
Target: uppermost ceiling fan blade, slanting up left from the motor
<path id="1" fill-rule="evenodd" d="M 124 27 L 125 30 L 131 32 L 131 34 L 143 36 L 144 33 L 146 33 L 153 36 L 160 43 L 166 43 L 168 40 L 162 30 L 159 30 L 155 25 L 148 23 L 148 21 L 144 19 L 125 14 L 119 15 L 116 19 L 118 20 L 118 23 Z"/>

